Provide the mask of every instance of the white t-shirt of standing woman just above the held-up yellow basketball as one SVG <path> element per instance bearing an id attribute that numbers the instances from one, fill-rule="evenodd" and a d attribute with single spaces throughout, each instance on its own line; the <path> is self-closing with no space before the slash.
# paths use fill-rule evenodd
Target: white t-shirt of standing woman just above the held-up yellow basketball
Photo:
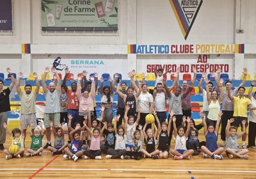
<path id="1" fill-rule="evenodd" d="M 141 113 L 149 113 L 150 102 L 154 102 L 154 99 L 150 93 L 140 93 L 137 104 L 141 107 Z M 138 109 L 138 108 L 137 108 Z"/>

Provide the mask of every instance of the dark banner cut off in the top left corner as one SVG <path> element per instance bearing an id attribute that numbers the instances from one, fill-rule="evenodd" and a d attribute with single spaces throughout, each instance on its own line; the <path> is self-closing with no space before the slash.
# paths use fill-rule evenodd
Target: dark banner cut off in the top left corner
<path id="1" fill-rule="evenodd" d="M 12 31 L 12 0 L 0 1 L 0 31 Z"/>

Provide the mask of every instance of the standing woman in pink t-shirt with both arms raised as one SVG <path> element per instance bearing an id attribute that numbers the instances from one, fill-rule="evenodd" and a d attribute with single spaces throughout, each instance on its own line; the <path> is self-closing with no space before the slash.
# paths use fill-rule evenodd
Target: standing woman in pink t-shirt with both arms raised
<path id="1" fill-rule="evenodd" d="M 81 91 L 81 79 L 83 79 L 83 76 L 80 76 L 77 78 L 77 97 L 79 100 L 79 123 L 81 124 L 81 127 L 83 127 L 83 121 L 84 121 L 84 115 L 88 116 L 88 111 L 92 111 L 91 118 L 94 119 L 93 115 L 93 104 L 95 100 L 95 82 L 94 77 L 90 77 L 90 80 L 92 81 L 92 88 L 89 93 L 88 88 L 83 89 Z M 89 110 L 90 109 L 90 110 Z"/>

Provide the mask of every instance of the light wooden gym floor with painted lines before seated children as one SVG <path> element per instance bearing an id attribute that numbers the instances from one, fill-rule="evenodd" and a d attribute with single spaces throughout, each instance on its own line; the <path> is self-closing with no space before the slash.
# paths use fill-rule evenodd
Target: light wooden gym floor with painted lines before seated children
<path id="1" fill-rule="evenodd" d="M 30 142 L 28 138 L 26 146 Z M 8 148 L 10 140 L 4 146 Z M 249 151 L 248 160 L 228 159 L 224 153 L 223 160 L 203 159 L 201 153 L 191 160 L 106 160 L 102 155 L 102 160 L 77 162 L 48 150 L 42 156 L 6 160 L 1 151 L 0 178 L 256 178 L 256 149 Z"/>

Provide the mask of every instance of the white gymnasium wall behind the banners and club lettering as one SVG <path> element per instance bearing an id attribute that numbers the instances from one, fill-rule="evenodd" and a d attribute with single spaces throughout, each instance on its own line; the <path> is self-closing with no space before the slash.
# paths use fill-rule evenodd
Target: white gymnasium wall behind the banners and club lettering
<path id="1" fill-rule="evenodd" d="M 74 74 L 82 69 L 100 74 L 127 74 L 132 69 L 151 72 L 152 65 L 161 65 L 162 68 L 166 67 L 163 65 L 189 65 L 188 73 L 191 73 L 192 65 L 202 63 L 198 72 L 205 65 L 228 65 L 225 73 L 230 79 L 240 79 L 243 67 L 248 68 L 251 78 L 254 78 L 256 1 L 204 0 L 186 40 L 170 1 L 118 0 L 118 32 L 86 32 L 81 35 L 42 33 L 41 1 L 15 0 L 14 31 L 11 34 L 0 32 L 0 72 L 6 74 L 6 67 L 10 66 L 13 72 L 22 71 L 27 77 L 31 72 L 41 74 L 44 66 L 52 66 L 53 60 L 61 56 L 63 65 L 70 68 L 73 65 Z M 236 33 L 239 28 L 244 33 Z M 31 54 L 22 54 L 22 43 L 31 44 Z M 137 44 L 137 48 L 138 45 L 177 45 L 176 51 L 180 51 L 180 45 L 194 45 L 195 49 L 200 44 L 244 44 L 244 52 L 132 54 L 127 52 L 129 44 Z M 204 63 L 198 61 L 198 58 L 205 57 Z M 77 64 L 71 64 L 71 61 L 77 61 Z M 123 77 L 127 79 L 126 75 Z"/>

